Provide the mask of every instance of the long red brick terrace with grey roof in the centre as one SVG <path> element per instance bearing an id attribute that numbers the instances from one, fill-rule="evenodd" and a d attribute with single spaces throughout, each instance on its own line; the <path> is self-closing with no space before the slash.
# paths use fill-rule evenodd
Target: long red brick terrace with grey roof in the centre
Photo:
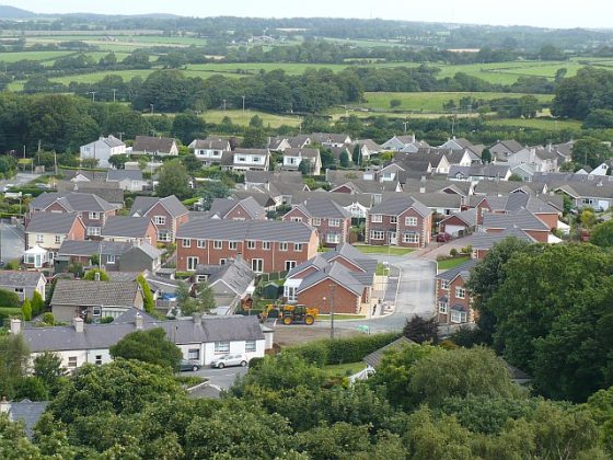
<path id="1" fill-rule="evenodd" d="M 302 222 L 194 219 L 178 229 L 176 268 L 223 265 L 241 255 L 255 273 L 289 272 L 317 253 L 320 239 Z"/>

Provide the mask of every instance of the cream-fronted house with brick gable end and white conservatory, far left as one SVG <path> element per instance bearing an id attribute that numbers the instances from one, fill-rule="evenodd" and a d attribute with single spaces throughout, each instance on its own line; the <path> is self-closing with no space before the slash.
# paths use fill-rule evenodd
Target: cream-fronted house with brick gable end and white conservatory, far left
<path id="1" fill-rule="evenodd" d="M 74 214 L 34 212 L 25 227 L 24 264 L 42 268 L 54 261 L 63 240 L 84 240 L 85 226 Z"/>

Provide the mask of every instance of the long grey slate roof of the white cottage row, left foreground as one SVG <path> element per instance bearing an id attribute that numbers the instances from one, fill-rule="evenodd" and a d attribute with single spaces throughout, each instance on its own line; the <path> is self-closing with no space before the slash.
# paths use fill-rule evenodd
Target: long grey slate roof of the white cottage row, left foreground
<path id="1" fill-rule="evenodd" d="M 142 313 L 141 313 L 142 314 Z M 143 320 L 143 330 L 162 327 L 166 337 L 175 344 L 195 344 L 225 341 L 263 340 L 264 333 L 255 315 L 204 317 L 201 322 L 175 320 L 150 322 Z M 22 334 L 32 353 L 43 350 L 105 349 L 115 345 L 130 332 L 136 324 L 84 324 L 78 333 L 71 325 L 55 327 L 23 329 Z"/>

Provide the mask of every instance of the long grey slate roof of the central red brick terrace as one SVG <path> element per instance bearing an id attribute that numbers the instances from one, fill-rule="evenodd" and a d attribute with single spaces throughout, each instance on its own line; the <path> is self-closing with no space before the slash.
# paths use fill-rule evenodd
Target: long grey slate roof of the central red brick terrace
<path id="1" fill-rule="evenodd" d="M 197 219 L 182 226 L 178 229 L 177 238 L 307 243 L 310 241 L 313 231 L 313 228 L 302 222 Z"/>

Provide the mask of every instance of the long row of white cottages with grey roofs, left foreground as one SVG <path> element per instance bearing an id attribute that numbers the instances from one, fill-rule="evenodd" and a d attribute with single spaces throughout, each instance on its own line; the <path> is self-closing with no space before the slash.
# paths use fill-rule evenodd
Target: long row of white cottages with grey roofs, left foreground
<path id="1" fill-rule="evenodd" d="M 195 314 L 190 320 L 157 321 L 130 309 L 111 324 L 85 324 L 81 318 L 71 321 L 72 325 L 66 326 L 22 327 L 21 321 L 12 320 L 11 333 L 23 335 L 31 359 L 45 350 L 55 352 L 70 371 L 86 364 L 109 363 L 109 348 L 136 331 L 163 329 L 167 340 L 180 347 L 183 358 L 200 366 L 227 354 L 244 354 L 247 359 L 264 357 L 268 335 L 255 315 Z"/>

